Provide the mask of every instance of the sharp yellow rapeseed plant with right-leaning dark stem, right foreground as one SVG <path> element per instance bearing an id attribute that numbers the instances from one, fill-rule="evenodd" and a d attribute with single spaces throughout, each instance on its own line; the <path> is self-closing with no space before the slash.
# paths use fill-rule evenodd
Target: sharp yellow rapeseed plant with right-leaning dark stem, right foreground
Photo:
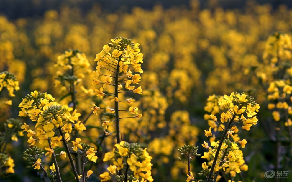
<path id="1" fill-rule="evenodd" d="M 203 170 L 200 174 L 206 176 L 207 181 L 219 180 L 221 178 L 219 172 L 229 173 L 231 177 L 235 177 L 236 173 L 241 172 L 241 169 L 246 171 L 248 168 L 243 160 L 243 153 L 237 145 L 238 143 L 245 148 L 247 141 L 246 139 L 240 140 L 237 133 L 240 128 L 249 131 L 252 125 L 257 124 L 258 119 L 255 115 L 260 106 L 245 93 L 233 92 L 230 96 L 224 95 L 224 97 L 212 95 L 207 101 L 205 110 L 212 114 L 209 117 L 205 115 L 210 126 L 209 130 L 205 130 L 205 136 L 211 137 L 211 145 L 209 146 L 205 141 L 202 144 L 204 148 L 208 149 L 208 152 L 204 152 L 204 156 L 202 156 L 208 160 L 208 163 L 202 164 Z M 221 113 L 220 119 L 217 119 L 215 115 L 219 113 Z M 223 131 L 220 140 L 216 138 L 214 132 L 212 133 L 212 129 L 216 133 Z"/>

